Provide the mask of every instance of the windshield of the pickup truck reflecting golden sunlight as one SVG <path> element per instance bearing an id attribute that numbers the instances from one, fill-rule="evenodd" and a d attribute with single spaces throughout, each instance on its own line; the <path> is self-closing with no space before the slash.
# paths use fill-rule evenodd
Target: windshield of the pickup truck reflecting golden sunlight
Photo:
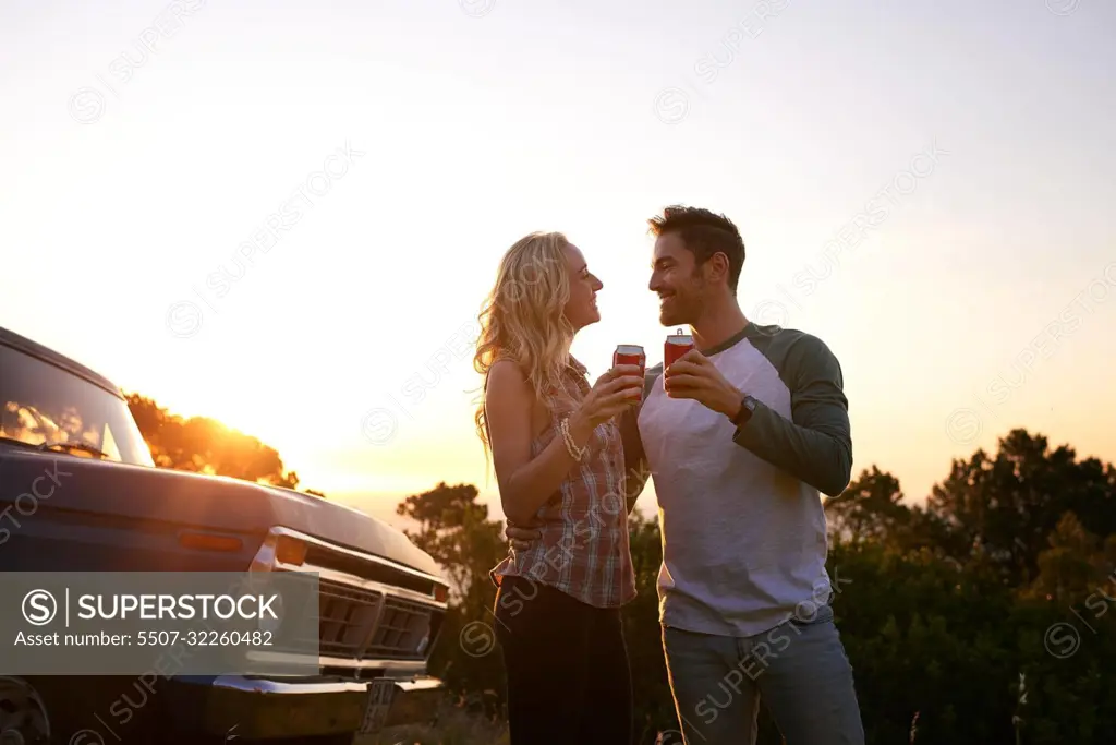
<path id="1" fill-rule="evenodd" d="M 155 465 L 126 401 L 3 344 L 0 437 L 79 458 Z"/>

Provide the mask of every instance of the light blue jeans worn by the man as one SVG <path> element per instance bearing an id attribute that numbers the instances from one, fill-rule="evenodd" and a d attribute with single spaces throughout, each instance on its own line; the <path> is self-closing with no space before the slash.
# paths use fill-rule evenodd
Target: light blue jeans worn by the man
<path id="1" fill-rule="evenodd" d="M 663 628 L 686 745 L 754 745 L 760 698 L 786 745 L 864 745 L 853 667 L 822 605 L 754 637 Z M 665 741 L 664 741 L 665 742 Z"/>

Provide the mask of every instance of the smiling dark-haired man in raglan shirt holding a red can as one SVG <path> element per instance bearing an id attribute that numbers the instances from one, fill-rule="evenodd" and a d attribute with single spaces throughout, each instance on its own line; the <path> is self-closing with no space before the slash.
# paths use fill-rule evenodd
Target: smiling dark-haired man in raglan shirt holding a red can
<path id="1" fill-rule="evenodd" d="M 762 699 L 787 745 L 863 745 L 819 494 L 840 494 L 852 471 L 840 365 L 820 340 L 744 317 L 744 243 L 728 218 L 672 207 L 650 223 L 660 321 L 689 325 L 696 348 L 647 371 L 625 458 L 650 466 L 658 496 L 660 619 L 685 743 L 754 743 Z"/>

